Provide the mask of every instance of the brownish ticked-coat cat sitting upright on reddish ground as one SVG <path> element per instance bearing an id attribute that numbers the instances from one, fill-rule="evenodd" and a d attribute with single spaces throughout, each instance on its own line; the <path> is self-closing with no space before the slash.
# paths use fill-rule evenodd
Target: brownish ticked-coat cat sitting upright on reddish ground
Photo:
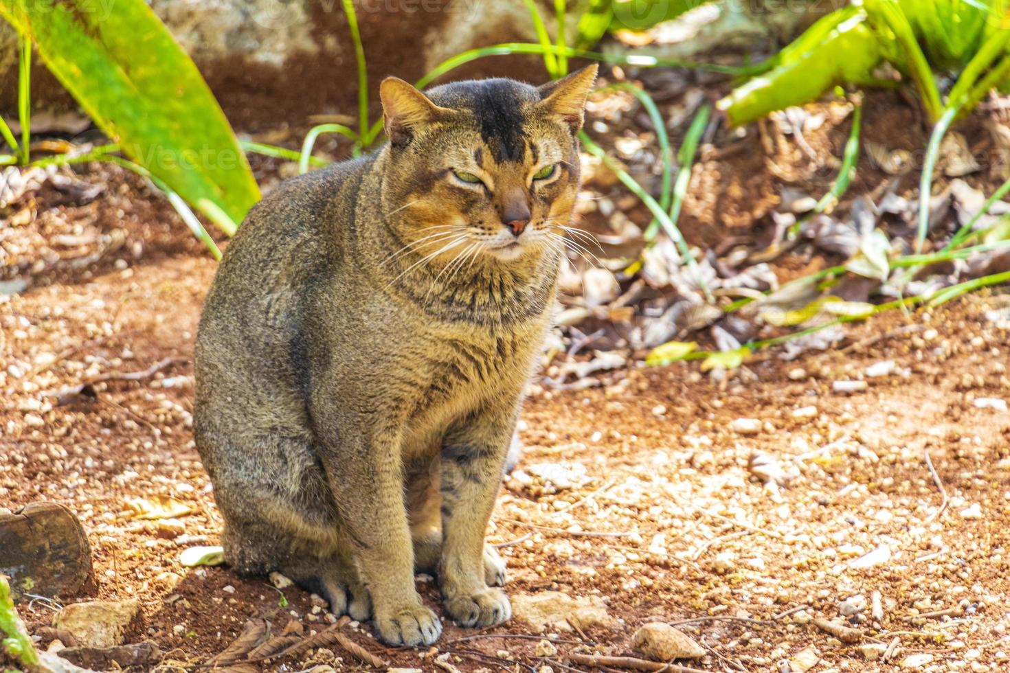
<path id="1" fill-rule="evenodd" d="M 549 326 L 596 66 L 380 88 L 389 141 L 282 183 L 227 246 L 194 435 L 241 574 L 278 571 L 398 646 L 508 620 L 484 544 Z"/>

